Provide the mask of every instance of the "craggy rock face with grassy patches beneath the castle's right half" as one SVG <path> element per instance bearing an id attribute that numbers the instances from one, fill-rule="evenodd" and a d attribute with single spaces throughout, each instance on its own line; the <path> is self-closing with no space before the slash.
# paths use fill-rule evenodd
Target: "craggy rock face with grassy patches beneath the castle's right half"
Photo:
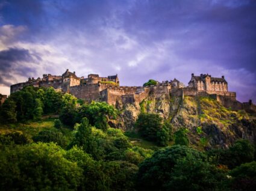
<path id="1" fill-rule="evenodd" d="M 256 112 L 231 111 L 210 97 L 170 97 L 151 94 L 140 103 L 128 103 L 121 109 L 117 127 L 135 130 L 140 112 L 157 113 L 170 121 L 173 132 L 186 127 L 195 147 L 226 148 L 236 139 L 246 138 L 256 142 Z"/>

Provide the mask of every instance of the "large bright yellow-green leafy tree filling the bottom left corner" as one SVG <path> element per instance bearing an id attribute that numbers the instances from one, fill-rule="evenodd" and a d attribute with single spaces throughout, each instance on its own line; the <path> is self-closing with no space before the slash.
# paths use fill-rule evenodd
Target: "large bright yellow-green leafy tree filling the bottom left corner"
<path id="1" fill-rule="evenodd" d="M 0 190 L 76 190 L 83 170 L 65 152 L 53 143 L 0 150 Z"/>

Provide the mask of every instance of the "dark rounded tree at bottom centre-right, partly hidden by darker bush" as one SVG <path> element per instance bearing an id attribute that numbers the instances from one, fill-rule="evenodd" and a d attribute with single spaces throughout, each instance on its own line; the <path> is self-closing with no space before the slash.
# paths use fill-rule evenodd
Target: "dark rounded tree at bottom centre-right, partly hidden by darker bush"
<path id="1" fill-rule="evenodd" d="M 146 159 L 137 174 L 138 190 L 167 190 L 166 183 L 172 181 L 173 168 L 178 160 L 192 156 L 195 160 L 205 162 L 206 156 L 192 148 L 175 145 L 156 151 L 153 156 Z"/>

